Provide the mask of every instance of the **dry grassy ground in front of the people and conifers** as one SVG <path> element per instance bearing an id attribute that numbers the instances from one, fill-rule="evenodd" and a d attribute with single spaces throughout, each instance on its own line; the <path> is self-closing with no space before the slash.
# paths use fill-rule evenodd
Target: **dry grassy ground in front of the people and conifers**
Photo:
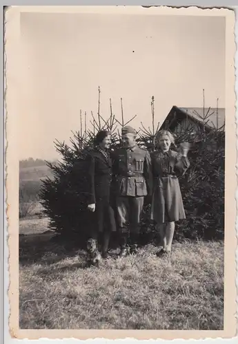
<path id="1" fill-rule="evenodd" d="M 21 329 L 222 330 L 224 243 L 175 243 L 87 268 L 75 243 L 50 241 L 48 219 L 20 222 Z"/>

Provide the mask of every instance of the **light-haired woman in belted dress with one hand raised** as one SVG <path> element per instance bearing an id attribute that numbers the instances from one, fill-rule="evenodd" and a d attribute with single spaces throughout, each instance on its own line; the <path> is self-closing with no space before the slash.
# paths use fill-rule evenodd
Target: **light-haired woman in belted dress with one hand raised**
<path id="1" fill-rule="evenodd" d="M 187 158 L 189 144 L 181 144 L 179 153 L 170 149 L 171 144 L 175 145 L 172 133 L 161 130 L 157 133 L 157 151 L 151 154 L 154 179 L 151 219 L 157 222 L 161 237 L 158 256 L 170 255 L 175 222 L 186 218 L 178 176 L 184 175 L 190 166 Z"/>

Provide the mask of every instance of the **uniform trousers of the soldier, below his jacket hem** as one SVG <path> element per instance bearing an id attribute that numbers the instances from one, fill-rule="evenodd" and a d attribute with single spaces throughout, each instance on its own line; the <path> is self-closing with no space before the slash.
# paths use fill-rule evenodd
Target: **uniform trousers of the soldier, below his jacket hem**
<path id="1" fill-rule="evenodd" d="M 117 217 L 121 236 L 121 246 L 126 246 L 129 236 L 131 239 L 134 238 L 134 241 L 137 241 L 139 235 L 139 220 L 143 209 L 143 198 L 143 196 L 117 197 Z"/>

